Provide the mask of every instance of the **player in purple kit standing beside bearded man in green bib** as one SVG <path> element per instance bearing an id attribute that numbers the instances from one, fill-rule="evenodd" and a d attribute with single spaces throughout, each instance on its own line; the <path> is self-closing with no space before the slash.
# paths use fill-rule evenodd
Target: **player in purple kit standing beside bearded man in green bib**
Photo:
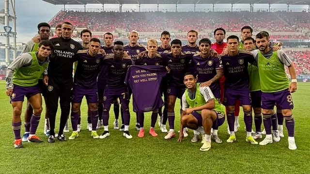
<path id="1" fill-rule="evenodd" d="M 226 77 L 224 86 L 224 105 L 228 108 L 227 121 L 231 135 L 227 142 L 233 143 L 233 141 L 236 140 L 234 134 L 234 113 L 235 103 L 237 100 L 240 100 L 243 107 L 244 121 L 247 128 L 246 141 L 252 145 L 257 145 L 258 143 L 253 139 L 251 134 L 253 119 L 249 91 L 248 63 L 254 65 L 257 64 L 252 54 L 246 51 L 238 50 L 238 47 L 239 38 L 234 35 L 229 36 L 227 38 L 228 54 L 221 55 L 224 66 L 224 75 Z"/>

